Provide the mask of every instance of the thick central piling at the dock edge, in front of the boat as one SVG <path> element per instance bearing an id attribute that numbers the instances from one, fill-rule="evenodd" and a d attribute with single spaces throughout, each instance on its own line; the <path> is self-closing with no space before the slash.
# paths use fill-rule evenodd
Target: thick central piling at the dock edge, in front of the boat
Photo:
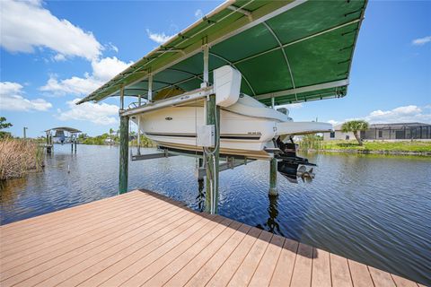
<path id="1" fill-rule="evenodd" d="M 219 167 L 219 150 L 220 150 L 220 107 L 216 106 L 216 95 L 210 95 L 207 100 L 207 125 L 215 125 L 216 141 L 215 148 L 209 148 L 212 155 L 207 155 L 207 196 L 206 212 L 217 213 L 218 205 L 218 167 Z"/>

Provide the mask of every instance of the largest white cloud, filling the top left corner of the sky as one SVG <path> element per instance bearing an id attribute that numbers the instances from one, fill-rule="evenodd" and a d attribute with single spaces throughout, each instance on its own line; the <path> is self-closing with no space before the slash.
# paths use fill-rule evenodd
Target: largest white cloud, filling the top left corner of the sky
<path id="1" fill-rule="evenodd" d="M 101 56 L 103 47 L 92 32 L 58 19 L 40 0 L 2 1 L 0 17 L 0 45 L 8 51 L 32 53 L 35 48 L 49 48 L 57 52 L 57 59 Z"/>

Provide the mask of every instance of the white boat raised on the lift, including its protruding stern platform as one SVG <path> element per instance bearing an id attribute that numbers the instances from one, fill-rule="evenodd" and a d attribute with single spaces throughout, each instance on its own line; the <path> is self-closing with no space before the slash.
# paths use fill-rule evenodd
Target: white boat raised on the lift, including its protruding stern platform
<path id="1" fill-rule="evenodd" d="M 259 109 L 264 109 L 264 113 L 277 112 L 261 106 Z M 251 117 L 239 112 L 220 110 L 221 154 L 268 159 L 273 155 L 265 149 L 273 148 L 273 139 L 280 135 L 302 135 L 327 132 L 331 129 L 329 124 L 295 123 L 279 112 L 277 113 L 281 116 L 276 115 L 277 118 Z M 282 120 L 284 118 L 286 121 Z M 159 146 L 192 152 L 202 151 L 202 147 L 197 145 L 198 126 L 205 125 L 202 101 L 189 106 L 157 109 L 132 117 L 132 120 L 142 133 Z"/>

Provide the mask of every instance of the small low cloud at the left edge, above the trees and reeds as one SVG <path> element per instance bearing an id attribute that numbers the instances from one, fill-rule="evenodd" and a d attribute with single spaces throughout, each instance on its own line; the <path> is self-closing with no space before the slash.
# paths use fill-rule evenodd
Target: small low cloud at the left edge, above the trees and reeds
<path id="1" fill-rule="evenodd" d="M 52 104 L 43 99 L 29 100 L 23 97 L 22 85 L 12 82 L 0 82 L 0 106 L 3 110 L 45 111 Z"/>

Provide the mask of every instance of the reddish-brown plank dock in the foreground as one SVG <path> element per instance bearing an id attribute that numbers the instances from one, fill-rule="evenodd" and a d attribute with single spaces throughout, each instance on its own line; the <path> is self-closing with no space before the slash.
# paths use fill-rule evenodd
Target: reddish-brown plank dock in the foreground
<path id="1" fill-rule="evenodd" d="M 5 286 L 421 286 L 133 191 L 1 227 Z"/>

